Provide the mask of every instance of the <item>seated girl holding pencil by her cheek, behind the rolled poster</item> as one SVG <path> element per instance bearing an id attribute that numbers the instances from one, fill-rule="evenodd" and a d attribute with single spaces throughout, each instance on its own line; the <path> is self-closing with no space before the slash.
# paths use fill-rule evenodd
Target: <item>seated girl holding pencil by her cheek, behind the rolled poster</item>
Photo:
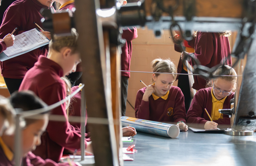
<path id="1" fill-rule="evenodd" d="M 153 72 L 177 73 L 170 59 L 154 59 Z M 188 130 L 184 96 L 179 87 L 172 86 L 175 74 L 152 75 L 152 85 L 138 91 L 135 101 L 135 117 L 158 122 L 174 122 L 180 129 Z"/>

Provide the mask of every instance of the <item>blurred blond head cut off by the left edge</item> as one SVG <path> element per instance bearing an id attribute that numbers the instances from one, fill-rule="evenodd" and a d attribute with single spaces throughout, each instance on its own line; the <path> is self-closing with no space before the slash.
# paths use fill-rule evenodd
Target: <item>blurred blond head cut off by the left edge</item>
<path id="1" fill-rule="evenodd" d="M 14 125 L 15 112 L 10 105 L 9 99 L 0 96 L 0 136 L 5 131 L 5 134 L 12 134 Z"/>

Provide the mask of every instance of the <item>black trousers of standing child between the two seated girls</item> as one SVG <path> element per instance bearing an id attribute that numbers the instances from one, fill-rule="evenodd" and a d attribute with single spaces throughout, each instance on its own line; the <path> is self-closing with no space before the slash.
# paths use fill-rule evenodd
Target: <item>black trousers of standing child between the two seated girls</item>
<path id="1" fill-rule="evenodd" d="M 182 68 L 181 73 L 188 74 L 188 72 L 186 70 L 184 70 L 183 68 Z M 190 107 L 191 101 L 192 101 L 192 98 L 190 96 L 188 75 L 179 75 L 178 87 L 181 89 L 181 91 L 184 95 L 185 109 L 186 109 L 186 113 L 187 113 L 188 109 Z"/>

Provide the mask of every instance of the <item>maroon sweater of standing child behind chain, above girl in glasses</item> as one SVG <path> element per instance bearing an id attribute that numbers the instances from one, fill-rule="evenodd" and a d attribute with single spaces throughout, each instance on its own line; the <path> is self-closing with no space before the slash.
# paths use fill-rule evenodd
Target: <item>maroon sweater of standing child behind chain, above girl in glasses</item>
<path id="1" fill-rule="evenodd" d="M 228 37 L 219 36 L 218 33 L 197 32 L 195 45 L 188 43 L 190 46 L 195 46 L 195 58 L 198 59 L 203 66 L 209 68 L 219 64 L 222 58 L 227 57 L 230 51 Z M 194 61 L 189 63 L 193 66 Z M 232 65 L 231 58 L 227 60 L 226 65 Z M 206 87 L 206 80 L 200 76 L 195 76 L 195 82 L 192 86 L 199 90 Z"/>

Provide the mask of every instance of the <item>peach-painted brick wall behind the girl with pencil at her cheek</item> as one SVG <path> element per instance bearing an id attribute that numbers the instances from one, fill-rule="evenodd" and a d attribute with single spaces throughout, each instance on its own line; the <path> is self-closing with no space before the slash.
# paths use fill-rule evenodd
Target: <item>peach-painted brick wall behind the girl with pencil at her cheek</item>
<path id="1" fill-rule="evenodd" d="M 175 34 L 175 33 L 174 33 Z M 152 72 L 150 63 L 155 58 L 170 58 L 174 64 L 178 65 L 180 53 L 174 50 L 174 44 L 170 39 L 170 32 L 168 30 L 163 32 L 160 39 L 155 38 L 153 31 L 147 28 L 138 29 L 138 38 L 132 41 L 132 60 L 131 71 L 149 71 Z M 235 41 L 236 34 L 233 33 L 229 40 L 231 49 Z M 128 97 L 127 100 L 134 107 L 136 94 L 138 90 L 144 87 L 140 82 L 142 80 L 146 85 L 149 85 L 152 79 L 151 73 L 134 73 L 131 72 L 128 84 Z M 173 85 L 177 86 L 178 81 Z M 135 111 L 128 104 L 126 105 L 126 116 L 135 118 Z"/>

